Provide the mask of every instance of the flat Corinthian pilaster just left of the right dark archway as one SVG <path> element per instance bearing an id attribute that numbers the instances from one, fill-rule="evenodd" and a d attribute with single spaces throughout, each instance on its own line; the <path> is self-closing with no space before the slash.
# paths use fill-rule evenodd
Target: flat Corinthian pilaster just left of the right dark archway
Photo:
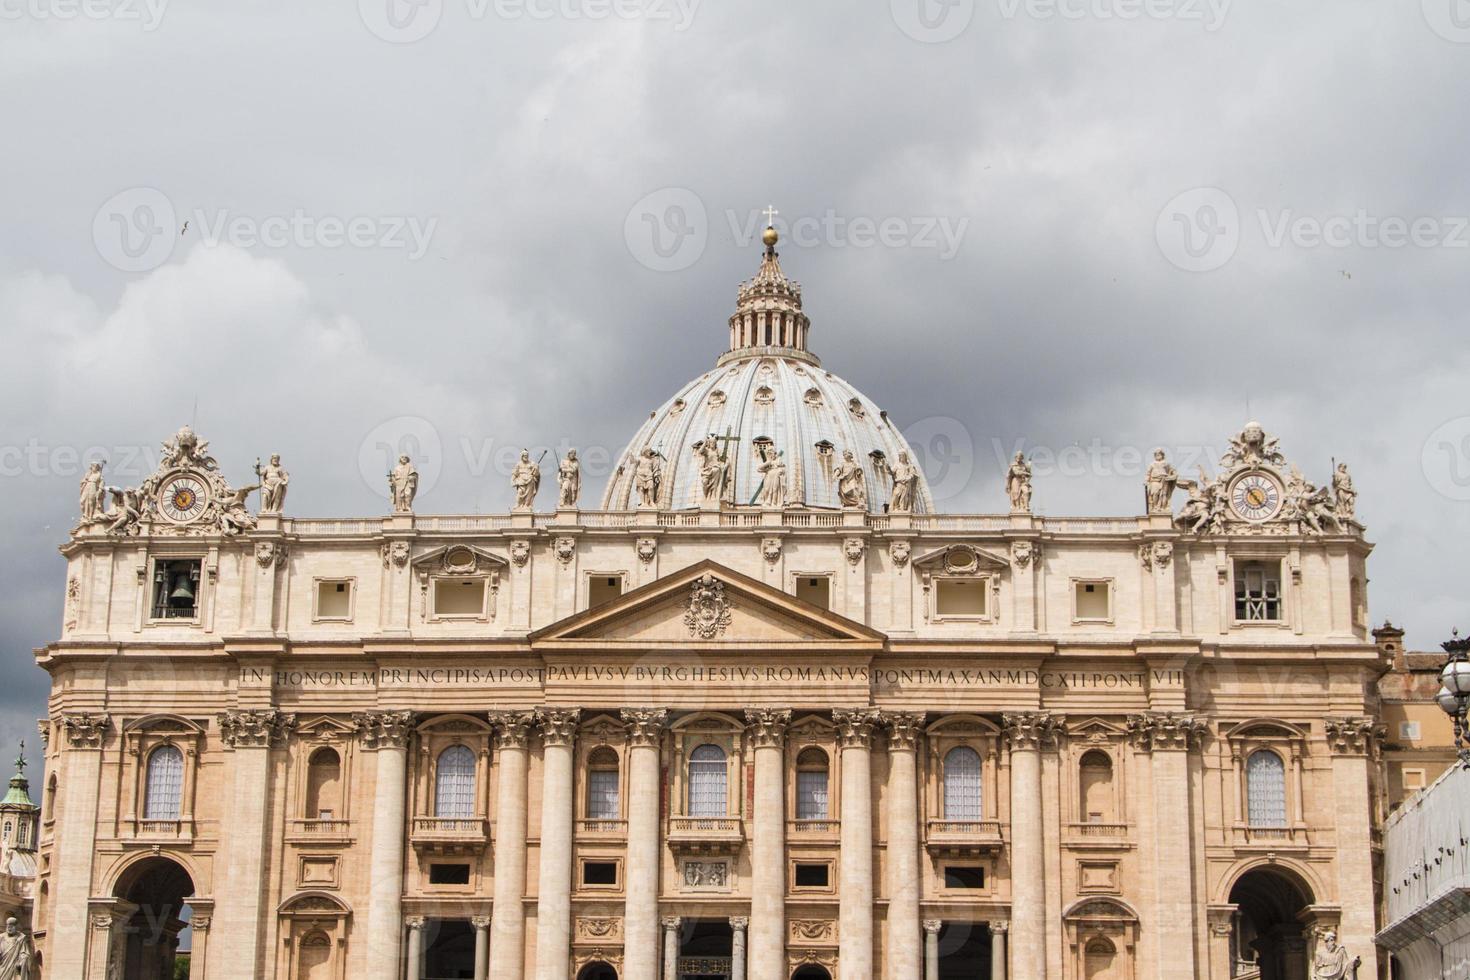
<path id="1" fill-rule="evenodd" d="M 1195 977 L 1194 818 L 1189 748 L 1205 726 L 1172 711 L 1127 720 L 1135 745 L 1152 755 L 1154 776 L 1154 934 L 1160 980 Z M 1020 946 L 1020 942 L 1016 943 Z"/>

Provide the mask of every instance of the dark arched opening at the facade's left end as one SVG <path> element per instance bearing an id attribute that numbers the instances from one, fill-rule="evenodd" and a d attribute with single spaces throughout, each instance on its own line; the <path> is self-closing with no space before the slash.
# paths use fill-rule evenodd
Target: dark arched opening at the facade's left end
<path id="1" fill-rule="evenodd" d="M 169 858 L 144 858 L 122 873 L 113 895 L 135 907 L 112 949 L 122 980 L 173 980 L 184 902 L 193 893 L 194 880 Z"/>

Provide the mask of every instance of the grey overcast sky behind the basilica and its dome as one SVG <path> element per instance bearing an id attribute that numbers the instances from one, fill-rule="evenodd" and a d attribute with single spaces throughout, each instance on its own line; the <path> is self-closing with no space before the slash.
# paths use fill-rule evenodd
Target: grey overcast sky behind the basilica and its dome
<path id="1" fill-rule="evenodd" d="M 0 0 L 0 748 L 79 458 L 137 483 L 193 420 L 348 516 L 410 447 L 420 513 L 465 513 L 575 445 L 595 502 L 723 350 L 767 203 L 941 508 L 1001 510 L 1020 447 L 1042 513 L 1135 514 L 1152 447 L 1192 472 L 1255 416 L 1351 464 L 1372 614 L 1436 648 L 1467 87 L 1461 0 Z"/>

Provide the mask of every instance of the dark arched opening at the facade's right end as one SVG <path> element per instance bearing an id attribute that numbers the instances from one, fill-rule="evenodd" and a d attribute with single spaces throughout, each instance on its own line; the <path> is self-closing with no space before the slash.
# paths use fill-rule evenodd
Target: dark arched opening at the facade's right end
<path id="1" fill-rule="evenodd" d="M 1310 949 L 1298 918 L 1311 905 L 1311 890 L 1277 868 L 1252 868 L 1230 889 L 1230 976 L 1260 971 L 1261 980 L 1308 974 Z"/>

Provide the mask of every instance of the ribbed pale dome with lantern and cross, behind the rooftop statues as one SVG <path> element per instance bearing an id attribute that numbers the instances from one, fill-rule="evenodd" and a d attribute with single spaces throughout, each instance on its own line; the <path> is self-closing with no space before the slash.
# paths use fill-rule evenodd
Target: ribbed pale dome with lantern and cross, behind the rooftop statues
<path id="1" fill-rule="evenodd" d="M 867 508 L 889 501 L 889 467 L 913 450 L 872 398 L 842 381 L 807 351 L 810 322 L 801 313 L 801 287 L 781 273 L 775 229 L 764 237 L 760 272 L 739 288 L 731 317 L 731 350 L 714 370 L 688 382 L 638 429 L 617 460 L 604 510 L 638 505 L 635 470 L 645 450 L 659 457 L 659 507 L 700 505 L 695 450 L 710 436 L 728 457 L 723 507 L 753 505 L 760 492 L 761 455 L 779 453 L 786 464 L 786 505 L 841 508 L 836 470 L 851 451 L 863 467 Z M 923 473 L 913 513 L 933 513 Z"/>

